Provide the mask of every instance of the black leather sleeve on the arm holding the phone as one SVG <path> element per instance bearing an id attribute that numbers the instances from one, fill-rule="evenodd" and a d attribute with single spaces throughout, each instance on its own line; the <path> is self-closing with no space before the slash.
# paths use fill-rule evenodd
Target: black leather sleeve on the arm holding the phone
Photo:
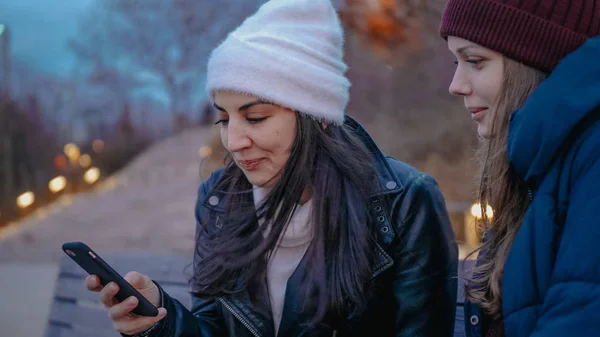
<path id="1" fill-rule="evenodd" d="M 198 190 L 196 201 L 196 231 L 203 219 L 202 203 L 206 198 L 210 186 L 215 183 L 215 175 L 207 179 Z M 202 257 L 196 252 L 194 264 Z M 167 316 L 156 326 L 148 331 L 148 337 L 212 337 L 224 336 L 225 324 L 217 300 L 214 298 L 198 298 L 192 295 L 192 308 L 188 310 L 178 300 L 172 298 L 159 285 L 163 307 L 167 309 Z"/>

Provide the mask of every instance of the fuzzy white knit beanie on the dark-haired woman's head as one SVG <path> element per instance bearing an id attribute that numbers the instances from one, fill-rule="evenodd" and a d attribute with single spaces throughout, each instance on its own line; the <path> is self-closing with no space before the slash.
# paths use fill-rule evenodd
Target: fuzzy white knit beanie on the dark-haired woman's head
<path id="1" fill-rule="evenodd" d="M 270 0 L 211 54 L 206 90 L 251 94 L 333 124 L 350 82 L 331 0 Z"/>

